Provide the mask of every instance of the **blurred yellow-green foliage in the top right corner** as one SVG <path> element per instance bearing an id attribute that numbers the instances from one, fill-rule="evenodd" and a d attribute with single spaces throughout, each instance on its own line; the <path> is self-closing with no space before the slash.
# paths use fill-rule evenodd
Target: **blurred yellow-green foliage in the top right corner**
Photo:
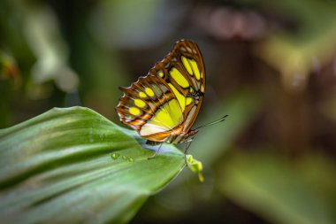
<path id="1" fill-rule="evenodd" d="M 281 73 L 286 89 L 305 89 L 309 74 L 334 57 L 336 4 L 314 0 L 261 2 L 263 7 L 277 12 L 294 12 L 291 16 L 297 20 L 298 28 L 294 34 L 270 34 L 257 46 L 256 53 Z"/>

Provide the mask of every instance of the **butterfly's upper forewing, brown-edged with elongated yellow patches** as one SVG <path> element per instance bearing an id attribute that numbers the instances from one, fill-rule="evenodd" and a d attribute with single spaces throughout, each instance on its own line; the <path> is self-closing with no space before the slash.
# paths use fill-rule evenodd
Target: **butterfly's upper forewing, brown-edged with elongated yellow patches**
<path id="1" fill-rule="evenodd" d="M 183 132 L 193 126 L 205 92 L 205 67 L 201 50 L 190 40 L 176 42 L 172 51 L 149 74 L 157 75 L 172 89 L 183 112 Z"/>

